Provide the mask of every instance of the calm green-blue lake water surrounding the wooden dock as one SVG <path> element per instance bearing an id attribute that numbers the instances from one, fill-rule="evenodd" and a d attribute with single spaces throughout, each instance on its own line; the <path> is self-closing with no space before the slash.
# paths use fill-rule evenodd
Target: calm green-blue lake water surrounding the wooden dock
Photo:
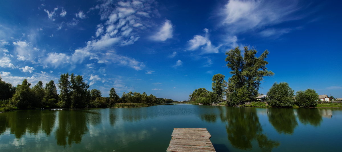
<path id="1" fill-rule="evenodd" d="M 173 128 L 207 128 L 218 152 L 340 151 L 341 109 L 191 104 L 0 114 L 0 151 L 163 152 Z"/>

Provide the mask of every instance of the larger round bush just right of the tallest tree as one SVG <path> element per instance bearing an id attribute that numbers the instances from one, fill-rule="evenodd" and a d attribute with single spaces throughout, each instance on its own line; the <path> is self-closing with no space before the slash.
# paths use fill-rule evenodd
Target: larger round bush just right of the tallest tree
<path id="1" fill-rule="evenodd" d="M 269 106 L 273 107 L 292 107 L 293 106 L 293 90 L 288 83 L 276 82 L 267 92 L 267 101 Z"/>

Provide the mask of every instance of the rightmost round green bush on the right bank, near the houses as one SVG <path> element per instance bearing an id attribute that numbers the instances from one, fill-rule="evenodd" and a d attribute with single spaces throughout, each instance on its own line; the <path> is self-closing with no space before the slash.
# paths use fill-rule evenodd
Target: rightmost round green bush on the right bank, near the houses
<path id="1" fill-rule="evenodd" d="M 296 104 L 300 107 L 317 106 L 317 100 L 318 94 L 314 89 L 306 89 L 296 93 Z"/>

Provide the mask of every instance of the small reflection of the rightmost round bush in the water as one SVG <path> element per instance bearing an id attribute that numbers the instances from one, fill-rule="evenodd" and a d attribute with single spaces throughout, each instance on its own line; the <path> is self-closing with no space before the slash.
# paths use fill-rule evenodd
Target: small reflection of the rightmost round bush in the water
<path id="1" fill-rule="evenodd" d="M 300 108 L 297 110 L 298 119 L 302 124 L 311 124 L 319 126 L 322 121 L 322 116 L 316 108 Z"/>

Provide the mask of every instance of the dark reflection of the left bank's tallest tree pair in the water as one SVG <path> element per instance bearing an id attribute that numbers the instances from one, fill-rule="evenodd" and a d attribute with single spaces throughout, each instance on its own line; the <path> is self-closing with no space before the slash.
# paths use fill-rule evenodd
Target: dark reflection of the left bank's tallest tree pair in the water
<path id="1" fill-rule="evenodd" d="M 83 134 L 88 131 L 86 121 L 86 113 L 82 110 L 59 111 L 55 137 L 57 144 L 71 146 L 74 142 L 80 143 Z"/>

